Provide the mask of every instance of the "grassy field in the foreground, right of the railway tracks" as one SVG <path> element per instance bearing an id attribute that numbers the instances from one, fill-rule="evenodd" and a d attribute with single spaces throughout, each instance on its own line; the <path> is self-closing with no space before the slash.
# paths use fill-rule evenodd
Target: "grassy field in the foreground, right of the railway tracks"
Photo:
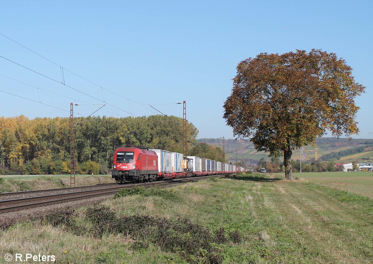
<path id="1" fill-rule="evenodd" d="M 372 263 L 373 173 L 294 177 L 141 190 L 3 230 L 0 251 L 56 255 L 58 263 Z"/>

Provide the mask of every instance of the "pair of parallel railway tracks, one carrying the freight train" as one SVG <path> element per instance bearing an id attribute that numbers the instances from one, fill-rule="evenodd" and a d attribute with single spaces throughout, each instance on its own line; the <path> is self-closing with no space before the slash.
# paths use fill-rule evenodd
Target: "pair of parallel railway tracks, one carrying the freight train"
<path id="1" fill-rule="evenodd" d="M 137 184 L 137 186 L 142 186 L 145 188 L 154 187 L 154 186 L 167 186 L 167 185 L 180 184 L 182 182 L 198 181 L 200 179 L 219 177 L 219 176 L 222 176 L 222 175 L 173 179 L 173 180 L 160 181 L 160 182 L 148 182 L 148 183 Z M 103 185 L 105 185 L 104 188 L 100 188 L 100 187 L 103 187 Z M 51 204 L 65 203 L 68 201 L 82 200 L 82 199 L 87 199 L 87 198 L 92 198 L 92 197 L 103 196 L 103 195 L 112 195 L 112 194 L 115 194 L 117 191 L 119 191 L 121 188 L 132 188 L 134 187 L 135 184 L 127 184 L 127 185 L 115 184 L 116 186 L 111 186 L 111 185 L 113 184 L 86 186 L 86 187 L 96 187 L 96 186 L 99 187 L 93 190 L 81 190 L 81 187 L 65 188 L 65 189 L 69 189 L 68 192 L 54 193 L 54 194 L 51 194 L 51 192 L 56 192 L 56 190 L 62 190 L 62 189 L 17 192 L 18 195 L 20 193 L 23 193 L 22 195 L 32 194 L 32 196 L 24 197 L 24 198 L 17 198 L 17 199 L 10 199 L 10 200 L 1 200 L 0 201 L 0 214 L 12 212 L 12 211 L 30 209 L 30 208 L 40 207 L 40 206 L 47 206 Z M 80 188 L 80 189 L 77 189 L 77 188 Z M 37 196 L 35 196 L 35 194 L 37 194 Z M 3 197 L 7 197 L 7 196 L 3 196 Z"/>

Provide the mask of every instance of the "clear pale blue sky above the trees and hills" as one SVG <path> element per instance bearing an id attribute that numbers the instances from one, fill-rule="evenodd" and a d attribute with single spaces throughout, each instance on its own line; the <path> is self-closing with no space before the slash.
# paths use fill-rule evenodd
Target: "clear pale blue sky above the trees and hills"
<path id="1" fill-rule="evenodd" d="M 182 105 L 169 103 L 185 100 L 198 137 L 233 138 L 222 105 L 237 64 L 261 52 L 320 48 L 344 58 L 355 80 L 366 86 L 355 100 L 361 109 L 360 135 L 354 137 L 372 138 L 372 3 L 5 1 L 1 34 L 98 86 L 66 70 L 62 85 L 59 66 L 0 35 L 2 57 L 57 81 L 0 58 L 1 75 L 40 88 L 0 76 L 0 90 L 37 101 L 0 92 L 1 115 L 68 117 L 70 102 L 76 102 L 81 104 L 76 115 L 90 115 L 100 104 L 111 106 L 95 115 L 150 115 L 152 104 L 182 117 Z"/>

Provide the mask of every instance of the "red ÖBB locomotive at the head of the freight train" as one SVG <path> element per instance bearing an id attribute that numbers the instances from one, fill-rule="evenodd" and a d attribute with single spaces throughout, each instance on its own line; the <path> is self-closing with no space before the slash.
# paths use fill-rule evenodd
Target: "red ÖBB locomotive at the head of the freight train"
<path id="1" fill-rule="evenodd" d="M 137 147 L 115 150 L 112 177 L 117 182 L 154 181 L 158 176 L 158 156 L 154 151 Z"/>

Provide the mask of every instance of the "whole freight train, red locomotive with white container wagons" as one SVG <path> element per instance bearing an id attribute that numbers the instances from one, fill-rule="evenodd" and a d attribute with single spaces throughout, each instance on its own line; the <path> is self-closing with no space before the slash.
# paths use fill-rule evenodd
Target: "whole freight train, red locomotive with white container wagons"
<path id="1" fill-rule="evenodd" d="M 182 159 L 181 153 L 162 149 L 120 147 L 114 152 L 112 178 L 123 183 L 232 174 L 244 171 L 241 166 L 197 156 L 187 156 L 187 169 L 182 169 Z"/>

